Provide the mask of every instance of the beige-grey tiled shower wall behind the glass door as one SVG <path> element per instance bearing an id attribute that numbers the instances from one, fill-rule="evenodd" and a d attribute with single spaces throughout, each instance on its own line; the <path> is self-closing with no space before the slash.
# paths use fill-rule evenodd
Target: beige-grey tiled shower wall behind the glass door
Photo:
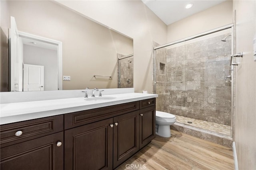
<path id="1" fill-rule="evenodd" d="M 175 115 L 231 124 L 231 40 L 226 35 L 156 50 L 156 108 Z M 154 47 L 158 46 L 154 43 Z"/>

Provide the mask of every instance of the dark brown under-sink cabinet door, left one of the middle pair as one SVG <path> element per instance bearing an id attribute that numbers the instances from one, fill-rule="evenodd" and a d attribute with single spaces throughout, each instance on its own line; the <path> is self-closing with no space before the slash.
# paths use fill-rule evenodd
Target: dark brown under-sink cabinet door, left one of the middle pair
<path id="1" fill-rule="evenodd" d="M 65 131 L 65 170 L 112 169 L 113 119 Z"/>

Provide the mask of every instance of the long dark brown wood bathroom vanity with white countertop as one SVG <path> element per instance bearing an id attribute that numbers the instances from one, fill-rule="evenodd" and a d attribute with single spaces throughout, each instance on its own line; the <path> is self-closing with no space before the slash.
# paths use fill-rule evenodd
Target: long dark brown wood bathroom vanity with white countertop
<path id="1" fill-rule="evenodd" d="M 57 109 L 59 112 L 43 111 L 52 116 L 2 124 L 1 169 L 118 167 L 155 137 L 157 95 L 127 94 L 137 96 L 129 99 L 125 95 L 112 95 L 115 99 L 108 101 L 83 101 L 86 104 Z M 70 109 L 78 111 L 63 113 Z M 43 112 L 34 114 L 46 114 Z"/>

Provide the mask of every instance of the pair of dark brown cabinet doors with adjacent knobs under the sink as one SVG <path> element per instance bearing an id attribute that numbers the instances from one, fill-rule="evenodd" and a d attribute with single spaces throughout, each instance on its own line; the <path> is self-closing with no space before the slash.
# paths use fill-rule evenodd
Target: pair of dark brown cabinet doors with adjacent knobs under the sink
<path id="1" fill-rule="evenodd" d="M 113 169 L 139 150 L 139 111 L 65 131 L 65 170 Z"/>

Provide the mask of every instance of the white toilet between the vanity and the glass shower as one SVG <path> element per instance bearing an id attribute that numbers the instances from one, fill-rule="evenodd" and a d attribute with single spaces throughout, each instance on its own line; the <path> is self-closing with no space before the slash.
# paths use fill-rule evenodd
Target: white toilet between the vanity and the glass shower
<path id="1" fill-rule="evenodd" d="M 156 135 L 171 137 L 170 125 L 173 125 L 175 122 L 175 115 L 163 111 L 156 111 Z"/>

